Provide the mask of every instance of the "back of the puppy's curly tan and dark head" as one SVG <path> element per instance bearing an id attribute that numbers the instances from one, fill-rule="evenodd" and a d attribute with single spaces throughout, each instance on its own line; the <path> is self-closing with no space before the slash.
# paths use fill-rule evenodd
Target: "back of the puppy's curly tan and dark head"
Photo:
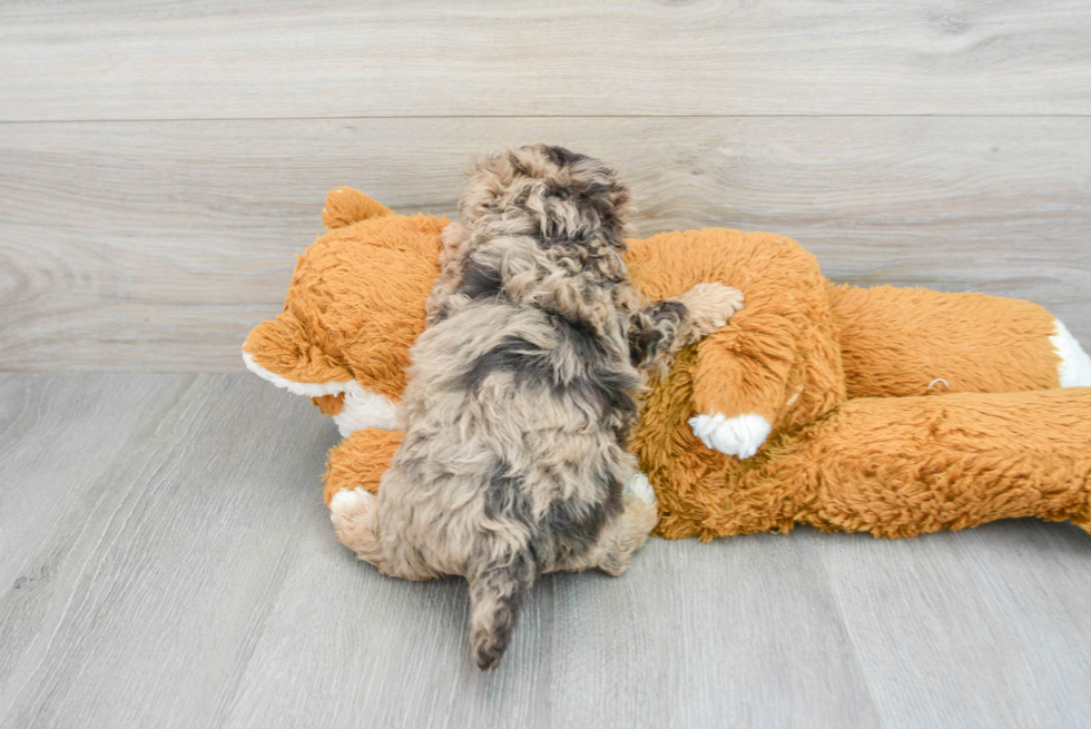
<path id="1" fill-rule="evenodd" d="M 498 152 L 470 173 L 459 200 L 469 229 L 485 221 L 512 233 L 625 248 L 629 190 L 603 162 L 563 147 L 530 145 Z M 594 240 L 598 238 L 598 240 Z"/>

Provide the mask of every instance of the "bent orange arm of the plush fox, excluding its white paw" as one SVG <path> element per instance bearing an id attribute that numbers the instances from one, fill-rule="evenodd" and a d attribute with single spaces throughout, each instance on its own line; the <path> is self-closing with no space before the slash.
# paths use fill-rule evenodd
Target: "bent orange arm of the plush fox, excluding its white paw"
<path id="1" fill-rule="evenodd" d="M 700 282 L 746 296 L 730 325 L 699 345 L 694 412 L 757 413 L 779 430 L 808 423 L 845 400 L 826 279 L 794 240 L 709 228 L 629 244 L 629 273 L 652 299 Z"/>

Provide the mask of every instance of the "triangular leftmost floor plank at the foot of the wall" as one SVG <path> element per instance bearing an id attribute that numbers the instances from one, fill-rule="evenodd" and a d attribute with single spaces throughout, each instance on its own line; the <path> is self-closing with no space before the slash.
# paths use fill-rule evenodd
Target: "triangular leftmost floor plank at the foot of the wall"
<path id="1" fill-rule="evenodd" d="M 0 375 L 0 707 L 23 651 L 40 648 L 50 609 L 95 539 L 116 464 L 146 436 L 148 415 L 176 402 L 190 376 L 95 378 Z M 108 423 L 102 427 L 102 423 Z M 114 466 L 114 467 L 111 467 Z M 73 551 L 76 550 L 76 551 Z M 60 583 L 60 588 L 58 584 Z M 61 590 L 58 593 L 58 589 Z"/>

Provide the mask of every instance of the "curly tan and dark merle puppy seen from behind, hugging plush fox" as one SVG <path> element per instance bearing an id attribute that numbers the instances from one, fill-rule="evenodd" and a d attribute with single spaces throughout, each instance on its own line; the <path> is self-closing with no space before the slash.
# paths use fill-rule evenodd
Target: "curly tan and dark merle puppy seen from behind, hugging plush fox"
<path id="1" fill-rule="evenodd" d="M 482 669 L 539 574 L 625 572 L 656 524 L 626 451 L 645 382 L 743 304 L 702 284 L 641 307 L 621 258 L 628 209 L 610 168 L 560 147 L 472 171 L 412 349 L 405 440 L 377 499 L 360 490 L 335 523 L 385 574 L 465 577 Z"/>

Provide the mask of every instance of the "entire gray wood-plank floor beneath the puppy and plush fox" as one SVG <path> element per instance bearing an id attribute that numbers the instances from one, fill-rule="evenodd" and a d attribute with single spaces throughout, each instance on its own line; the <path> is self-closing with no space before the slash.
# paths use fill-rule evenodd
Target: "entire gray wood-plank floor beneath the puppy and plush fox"
<path id="1" fill-rule="evenodd" d="M 333 538 L 333 425 L 250 375 L 0 375 L 0 726 L 1081 727 L 1091 540 L 652 540 L 492 676 L 465 587 Z M 58 435 L 60 437 L 58 437 Z M 12 501 L 13 500 L 13 501 Z M 13 508 L 8 508 L 8 504 Z"/>

